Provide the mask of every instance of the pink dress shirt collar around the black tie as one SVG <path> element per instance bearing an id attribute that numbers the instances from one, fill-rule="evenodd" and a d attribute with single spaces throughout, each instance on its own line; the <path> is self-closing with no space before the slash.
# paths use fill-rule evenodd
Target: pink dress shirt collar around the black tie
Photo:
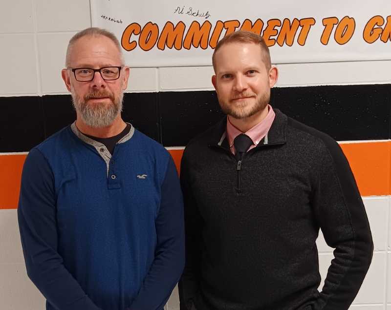
<path id="1" fill-rule="evenodd" d="M 274 113 L 273 108 L 271 107 L 270 104 L 268 104 L 267 107 L 269 109 L 269 112 L 267 113 L 266 117 L 261 121 L 261 123 L 256 124 L 254 127 L 244 132 L 253 141 L 253 145 L 251 145 L 248 150 L 256 147 L 260 143 L 262 138 L 266 136 L 271 125 L 273 124 L 276 113 Z M 227 139 L 228 139 L 229 148 L 232 154 L 234 155 L 236 154 L 234 140 L 241 133 L 243 132 L 241 132 L 238 128 L 236 128 L 233 124 L 231 124 L 227 116 Z"/>

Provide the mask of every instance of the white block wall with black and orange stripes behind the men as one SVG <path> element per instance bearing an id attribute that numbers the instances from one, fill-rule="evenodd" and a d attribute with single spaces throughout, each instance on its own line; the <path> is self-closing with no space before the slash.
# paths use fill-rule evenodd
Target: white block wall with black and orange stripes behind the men
<path id="1" fill-rule="evenodd" d="M 89 1 L 0 2 L 0 300 L 4 310 L 41 310 L 27 278 L 17 222 L 24 158 L 74 119 L 60 76 L 69 38 L 91 25 Z M 351 309 L 391 310 L 391 61 L 277 64 L 271 103 L 340 142 L 369 216 L 375 252 Z M 222 117 L 211 66 L 134 68 L 123 117 L 166 146 L 183 147 Z M 318 240 L 322 278 L 332 258 Z M 175 290 L 167 309 L 179 309 Z"/>

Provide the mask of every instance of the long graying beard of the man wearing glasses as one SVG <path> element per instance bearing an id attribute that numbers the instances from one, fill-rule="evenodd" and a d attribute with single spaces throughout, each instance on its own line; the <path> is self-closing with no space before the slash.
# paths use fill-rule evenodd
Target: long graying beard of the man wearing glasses
<path id="1" fill-rule="evenodd" d="M 122 111 L 122 102 L 124 98 L 124 93 L 122 91 L 116 98 L 110 96 L 111 104 L 108 107 L 102 103 L 94 104 L 93 106 L 87 104 L 87 96 L 82 100 L 72 91 L 73 107 L 77 114 L 81 116 L 83 122 L 90 127 L 107 127 L 114 122 L 115 118 Z"/>

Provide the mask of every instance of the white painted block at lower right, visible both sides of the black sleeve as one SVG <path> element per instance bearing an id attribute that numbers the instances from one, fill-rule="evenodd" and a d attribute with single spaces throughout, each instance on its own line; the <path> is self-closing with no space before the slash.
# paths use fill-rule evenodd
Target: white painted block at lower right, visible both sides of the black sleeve
<path id="1" fill-rule="evenodd" d="M 319 271 L 322 276 L 322 282 L 319 290 L 324 285 L 327 269 L 330 266 L 331 259 L 334 256 L 332 254 L 319 255 Z M 373 254 L 372 263 L 369 267 L 367 276 L 364 279 L 363 285 L 359 290 L 355 304 L 380 304 L 385 300 L 384 288 L 386 285 L 385 272 L 386 272 L 386 252 L 378 252 Z"/>

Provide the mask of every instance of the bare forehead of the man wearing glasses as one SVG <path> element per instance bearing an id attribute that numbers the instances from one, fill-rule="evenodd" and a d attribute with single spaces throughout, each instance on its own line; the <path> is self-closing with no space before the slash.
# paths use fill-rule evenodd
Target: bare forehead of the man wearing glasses
<path id="1" fill-rule="evenodd" d="M 116 44 L 105 36 L 85 36 L 69 48 L 69 63 L 79 65 L 122 65 L 122 55 Z"/>

